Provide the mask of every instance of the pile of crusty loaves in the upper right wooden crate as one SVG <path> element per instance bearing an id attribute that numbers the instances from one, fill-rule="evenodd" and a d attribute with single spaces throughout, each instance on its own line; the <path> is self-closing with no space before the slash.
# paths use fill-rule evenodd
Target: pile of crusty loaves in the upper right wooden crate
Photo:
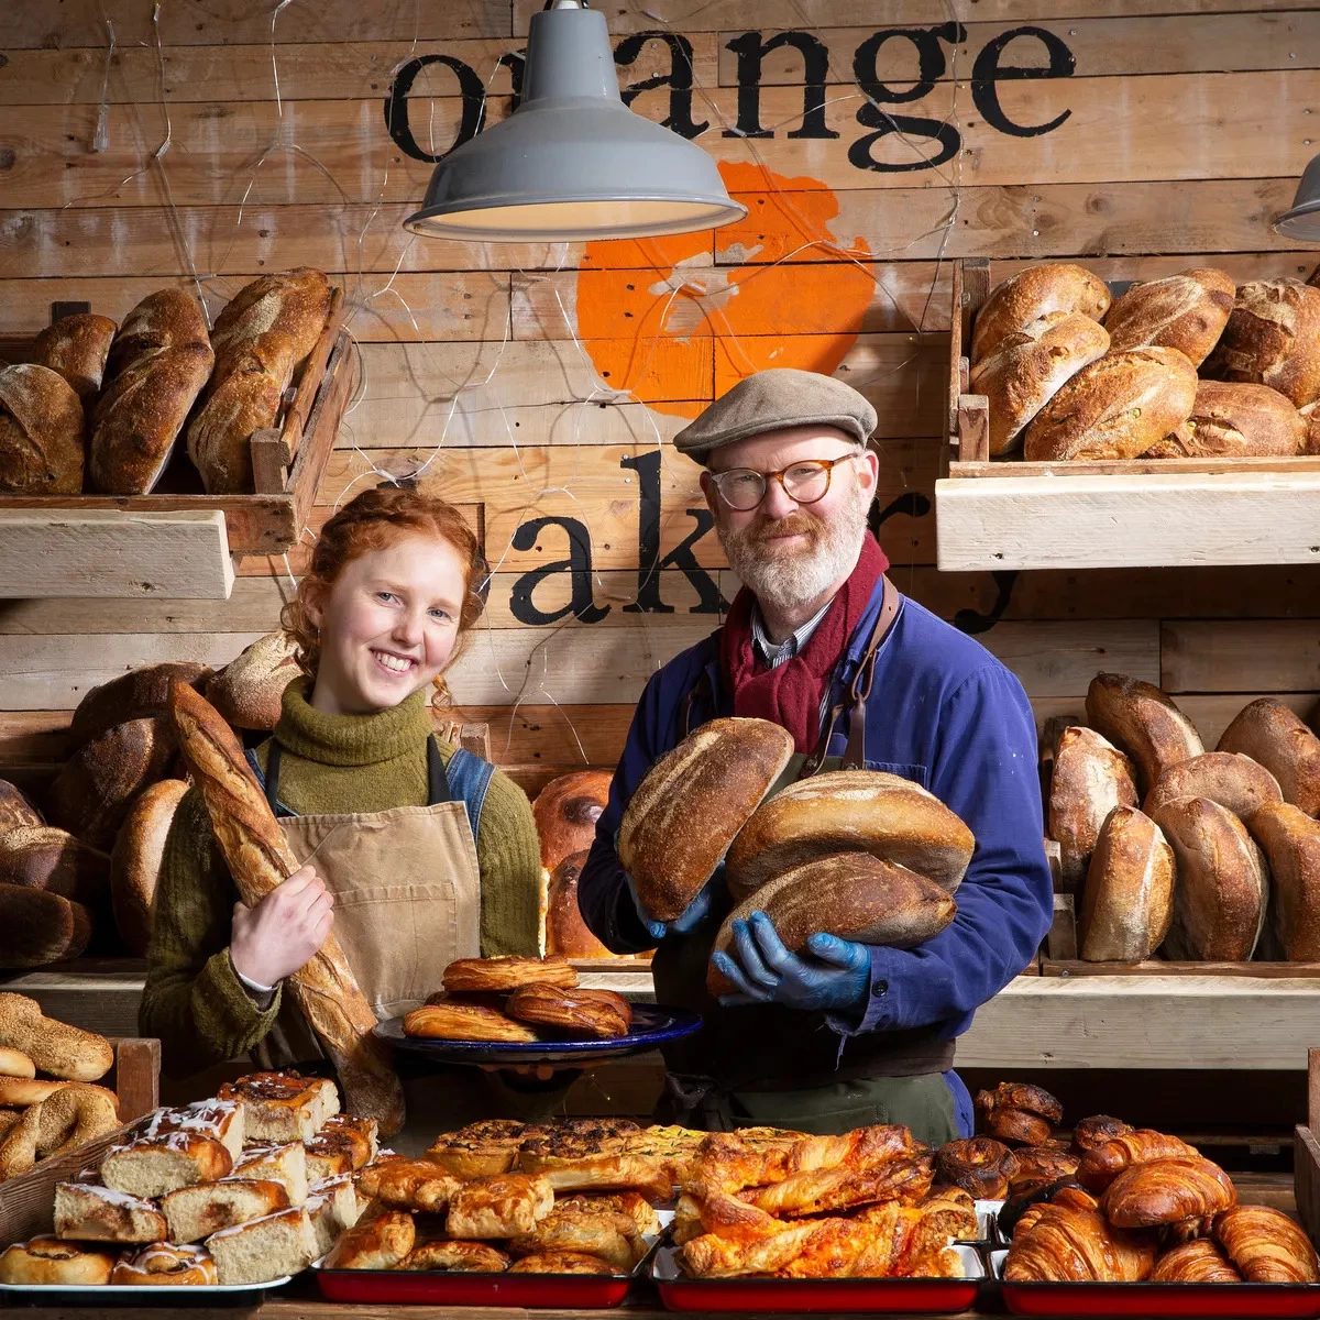
<path id="1" fill-rule="evenodd" d="M 1084 267 L 1028 267 L 977 315 L 969 387 L 993 458 L 1320 453 L 1320 288 L 1196 268 L 1111 298 Z"/>

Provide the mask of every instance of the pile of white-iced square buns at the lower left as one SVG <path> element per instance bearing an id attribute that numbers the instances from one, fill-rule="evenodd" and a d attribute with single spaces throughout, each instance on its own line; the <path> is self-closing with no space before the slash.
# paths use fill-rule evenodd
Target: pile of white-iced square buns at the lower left
<path id="1" fill-rule="evenodd" d="M 253 1073 L 156 1110 L 98 1167 L 58 1183 L 53 1237 L 9 1246 L 0 1282 L 243 1286 L 297 1274 L 356 1222 L 356 1177 L 380 1156 L 375 1122 L 341 1114 L 333 1081 Z"/>

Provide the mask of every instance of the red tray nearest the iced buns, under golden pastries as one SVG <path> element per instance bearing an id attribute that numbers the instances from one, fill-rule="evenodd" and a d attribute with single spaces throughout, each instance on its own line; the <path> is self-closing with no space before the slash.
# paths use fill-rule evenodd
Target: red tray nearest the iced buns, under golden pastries
<path id="1" fill-rule="evenodd" d="M 428 1274 L 422 1270 L 314 1270 L 327 1302 L 376 1305 L 564 1307 L 601 1311 L 620 1305 L 632 1275 Z"/>

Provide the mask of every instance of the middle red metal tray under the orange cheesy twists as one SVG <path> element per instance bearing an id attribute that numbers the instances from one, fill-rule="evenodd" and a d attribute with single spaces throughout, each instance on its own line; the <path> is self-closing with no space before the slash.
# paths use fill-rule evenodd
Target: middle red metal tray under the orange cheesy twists
<path id="1" fill-rule="evenodd" d="M 954 1246 L 961 1279 L 689 1279 L 673 1247 L 660 1247 L 651 1278 L 671 1311 L 829 1311 L 916 1315 L 969 1311 L 986 1271 L 975 1247 Z"/>

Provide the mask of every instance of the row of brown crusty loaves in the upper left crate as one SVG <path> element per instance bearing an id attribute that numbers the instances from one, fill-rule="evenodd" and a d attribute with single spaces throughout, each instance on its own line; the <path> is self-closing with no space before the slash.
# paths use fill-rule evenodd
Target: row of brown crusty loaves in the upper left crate
<path id="1" fill-rule="evenodd" d="M 209 492 L 251 491 L 252 433 L 275 425 L 329 312 L 325 275 L 301 267 L 246 285 L 210 333 L 182 289 L 149 294 L 119 326 L 57 321 L 33 362 L 0 368 L 0 492 L 147 494 L 185 429 Z"/>

